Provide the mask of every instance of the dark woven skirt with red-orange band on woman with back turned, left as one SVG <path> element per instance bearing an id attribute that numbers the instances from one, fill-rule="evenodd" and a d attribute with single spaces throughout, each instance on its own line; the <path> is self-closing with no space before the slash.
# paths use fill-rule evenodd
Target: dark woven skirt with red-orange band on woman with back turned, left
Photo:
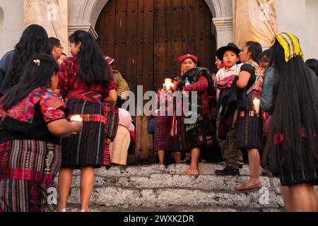
<path id="1" fill-rule="evenodd" d="M 69 99 L 66 100 L 66 106 L 70 115 L 81 115 L 83 129 L 79 134 L 61 139 L 61 167 L 102 167 L 105 151 L 105 117 L 102 105 L 97 102 Z"/>

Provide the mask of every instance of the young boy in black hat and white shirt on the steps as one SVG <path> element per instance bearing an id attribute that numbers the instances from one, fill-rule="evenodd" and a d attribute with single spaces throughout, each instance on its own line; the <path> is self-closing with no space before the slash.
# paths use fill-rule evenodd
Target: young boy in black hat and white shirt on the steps
<path id="1" fill-rule="evenodd" d="M 229 43 L 226 47 L 221 47 L 216 52 L 218 59 L 223 59 L 224 68 L 220 69 L 216 74 L 214 87 L 216 88 L 216 98 L 218 101 L 218 117 L 216 124 L 218 127 L 218 142 L 222 151 L 223 160 L 225 160 L 225 168 L 216 170 L 217 175 L 238 175 L 239 163 L 243 162 L 242 153 L 237 149 L 236 143 L 236 126 L 233 119 L 235 112 L 225 112 L 223 97 L 230 93 L 232 83 L 240 73 L 241 50 L 233 43 Z M 242 166 L 242 164 L 241 164 Z"/>

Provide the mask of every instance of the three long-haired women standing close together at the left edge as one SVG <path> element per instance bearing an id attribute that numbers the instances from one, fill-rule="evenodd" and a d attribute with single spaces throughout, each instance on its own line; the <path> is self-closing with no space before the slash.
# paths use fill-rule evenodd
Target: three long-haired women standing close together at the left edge
<path id="1" fill-rule="evenodd" d="M 88 211 L 94 169 L 110 161 L 103 109 L 117 100 L 110 66 L 89 32 L 69 42 L 72 57 L 59 67 L 45 29 L 30 25 L 1 60 L 0 211 L 54 210 L 47 189 L 58 173 L 57 210 L 65 211 L 73 169 L 81 169 L 81 211 Z"/>

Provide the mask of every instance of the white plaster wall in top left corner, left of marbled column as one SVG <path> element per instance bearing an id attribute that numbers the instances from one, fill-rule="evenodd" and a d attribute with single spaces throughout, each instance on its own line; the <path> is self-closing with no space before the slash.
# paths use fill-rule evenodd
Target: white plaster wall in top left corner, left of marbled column
<path id="1" fill-rule="evenodd" d="M 0 0 L 0 7 L 4 11 L 0 35 L 0 57 L 3 57 L 13 49 L 23 32 L 23 0 Z"/>

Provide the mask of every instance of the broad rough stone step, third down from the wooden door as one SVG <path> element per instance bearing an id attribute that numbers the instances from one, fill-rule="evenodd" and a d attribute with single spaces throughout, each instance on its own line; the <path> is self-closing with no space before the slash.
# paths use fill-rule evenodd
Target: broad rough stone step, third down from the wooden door
<path id="1" fill-rule="evenodd" d="M 79 203 L 80 189 L 73 187 L 68 203 Z M 267 202 L 265 197 L 267 197 Z M 168 208 L 169 206 L 213 206 L 231 208 L 282 208 L 283 198 L 276 192 L 204 191 L 201 189 L 137 189 L 122 186 L 95 186 L 90 204 L 119 208 Z"/>

